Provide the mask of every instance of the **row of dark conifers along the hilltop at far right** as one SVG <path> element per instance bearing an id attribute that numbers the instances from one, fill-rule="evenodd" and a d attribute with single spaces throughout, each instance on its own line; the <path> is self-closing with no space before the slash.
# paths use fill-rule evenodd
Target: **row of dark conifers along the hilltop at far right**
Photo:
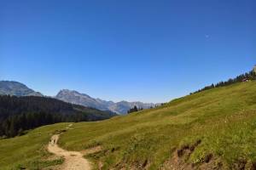
<path id="1" fill-rule="evenodd" d="M 228 85 L 234 84 L 236 82 L 253 81 L 253 80 L 256 80 L 256 73 L 254 71 L 249 71 L 245 74 L 241 74 L 240 76 L 238 76 L 236 78 L 230 78 L 226 82 L 218 82 L 216 84 L 212 83 L 212 85 L 207 86 L 205 88 L 201 88 L 201 89 L 199 89 L 199 90 L 197 90 L 197 91 L 195 91 L 194 93 L 191 93 L 191 94 L 199 93 L 201 91 L 211 89 L 211 88 L 218 88 L 218 87 L 228 86 Z"/>

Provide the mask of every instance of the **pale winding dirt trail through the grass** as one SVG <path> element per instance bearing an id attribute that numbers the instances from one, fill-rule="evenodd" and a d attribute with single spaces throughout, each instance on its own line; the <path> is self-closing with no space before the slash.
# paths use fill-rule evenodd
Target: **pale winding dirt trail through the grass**
<path id="1" fill-rule="evenodd" d="M 69 125 L 71 127 L 72 125 Z M 56 156 L 63 156 L 65 161 L 57 169 L 61 170 L 90 170 L 90 162 L 84 159 L 83 154 L 79 151 L 63 150 L 57 144 L 60 134 L 55 134 L 51 137 L 48 144 L 48 150 L 50 153 Z"/>

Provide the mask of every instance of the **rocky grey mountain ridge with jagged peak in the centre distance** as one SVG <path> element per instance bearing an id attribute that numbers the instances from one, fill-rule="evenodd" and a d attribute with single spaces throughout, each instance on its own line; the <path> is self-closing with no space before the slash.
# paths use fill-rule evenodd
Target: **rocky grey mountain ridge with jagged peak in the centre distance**
<path id="1" fill-rule="evenodd" d="M 119 114 L 126 114 L 128 110 L 137 105 L 139 108 L 148 109 L 154 107 L 154 104 L 147 104 L 142 102 L 127 102 L 121 101 L 114 103 L 113 101 L 106 101 L 102 99 L 94 99 L 87 94 L 80 94 L 74 90 L 63 89 L 56 96 L 56 99 L 63 101 L 93 107 L 102 111 L 113 111 Z"/>

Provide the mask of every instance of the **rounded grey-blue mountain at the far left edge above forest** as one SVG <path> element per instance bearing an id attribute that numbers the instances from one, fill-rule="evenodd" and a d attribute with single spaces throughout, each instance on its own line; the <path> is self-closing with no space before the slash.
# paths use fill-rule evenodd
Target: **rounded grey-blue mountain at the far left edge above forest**
<path id="1" fill-rule="evenodd" d="M 14 81 L 0 81 L 0 95 L 43 96 L 31 88 L 27 88 L 26 85 Z"/>

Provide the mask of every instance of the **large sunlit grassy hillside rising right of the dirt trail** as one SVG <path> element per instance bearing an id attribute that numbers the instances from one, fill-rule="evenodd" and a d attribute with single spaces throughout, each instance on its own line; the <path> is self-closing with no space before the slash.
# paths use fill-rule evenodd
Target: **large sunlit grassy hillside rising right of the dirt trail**
<path id="1" fill-rule="evenodd" d="M 230 168 L 238 161 L 256 161 L 256 82 L 213 88 L 129 116 L 102 122 L 80 122 L 62 135 L 67 150 L 102 145 L 92 155 L 103 168 L 161 167 L 174 150 L 201 139 L 188 162 L 212 154 Z M 146 161 L 147 160 L 147 161 Z"/>

